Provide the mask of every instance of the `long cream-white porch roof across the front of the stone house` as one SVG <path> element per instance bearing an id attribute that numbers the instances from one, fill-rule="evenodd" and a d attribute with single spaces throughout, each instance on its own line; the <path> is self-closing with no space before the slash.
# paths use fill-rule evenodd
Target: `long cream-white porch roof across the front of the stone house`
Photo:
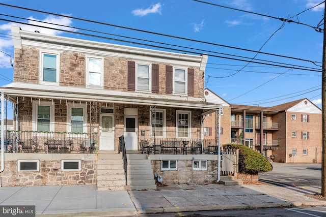
<path id="1" fill-rule="evenodd" d="M 43 84 L 11 83 L 10 85 L 0 87 L 0 91 L 4 92 L 12 102 L 16 102 L 17 97 L 31 97 L 69 101 L 193 108 L 202 109 L 203 112 L 216 110 L 222 107 L 220 104 L 207 103 L 205 98 L 67 86 L 49 86 Z"/>

